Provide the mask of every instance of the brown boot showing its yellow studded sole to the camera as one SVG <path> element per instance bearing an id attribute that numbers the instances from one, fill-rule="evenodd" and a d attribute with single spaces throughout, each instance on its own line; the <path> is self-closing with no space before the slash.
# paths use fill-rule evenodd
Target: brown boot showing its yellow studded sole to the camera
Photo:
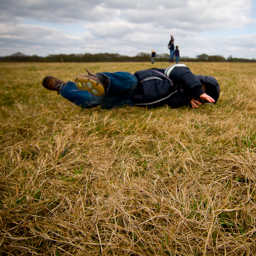
<path id="1" fill-rule="evenodd" d="M 97 75 L 90 73 L 82 74 L 74 78 L 75 85 L 80 90 L 87 90 L 95 96 L 102 96 L 105 93 L 104 84 L 100 81 Z"/>

